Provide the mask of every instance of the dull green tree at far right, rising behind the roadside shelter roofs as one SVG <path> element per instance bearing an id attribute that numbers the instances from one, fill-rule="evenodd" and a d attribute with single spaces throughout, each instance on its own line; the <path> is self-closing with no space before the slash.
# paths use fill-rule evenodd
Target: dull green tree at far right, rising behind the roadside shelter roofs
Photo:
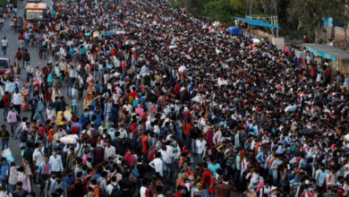
<path id="1" fill-rule="evenodd" d="M 290 21 L 297 22 L 297 30 L 315 30 L 315 42 L 319 43 L 323 18 L 342 17 L 345 0 L 293 0 L 289 10 Z"/>

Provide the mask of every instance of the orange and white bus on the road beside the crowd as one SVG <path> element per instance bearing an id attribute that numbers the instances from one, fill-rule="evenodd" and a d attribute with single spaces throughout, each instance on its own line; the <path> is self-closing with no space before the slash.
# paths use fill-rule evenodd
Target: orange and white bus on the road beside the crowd
<path id="1" fill-rule="evenodd" d="M 47 20 L 47 4 L 45 3 L 28 3 L 25 6 L 24 29 L 28 30 L 28 24 L 33 25 L 33 30 L 38 30 L 38 21 Z"/>

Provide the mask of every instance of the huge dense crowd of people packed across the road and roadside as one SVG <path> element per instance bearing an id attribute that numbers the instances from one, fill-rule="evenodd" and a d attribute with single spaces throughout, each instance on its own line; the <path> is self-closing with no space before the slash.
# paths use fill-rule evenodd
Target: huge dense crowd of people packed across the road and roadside
<path id="1" fill-rule="evenodd" d="M 23 161 L 1 159 L 0 194 L 349 194 L 349 77 L 327 60 L 163 1 L 55 0 L 47 17 L 2 80 L 2 150 L 20 141 Z M 33 68 L 30 46 L 51 61 Z"/>

